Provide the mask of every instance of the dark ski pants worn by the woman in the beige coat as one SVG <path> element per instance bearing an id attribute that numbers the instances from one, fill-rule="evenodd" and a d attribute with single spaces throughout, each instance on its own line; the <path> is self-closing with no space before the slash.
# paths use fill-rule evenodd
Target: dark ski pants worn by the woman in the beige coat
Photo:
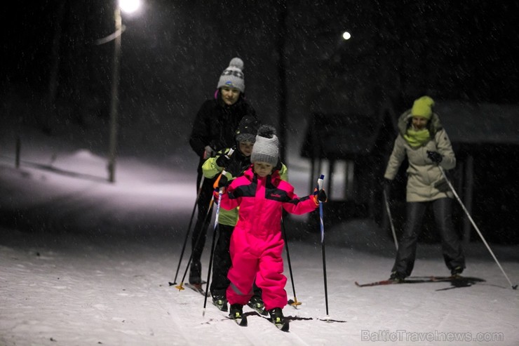
<path id="1" fill-rule="evenodd" d="M 398 253 L 392 272 L 410 276 L 414 267 L 417 252 L 417 241 L 422 232 L 422 219 L 427 206 L 432 205 L 436 228 L 440 232 L 442 252 L 445 265 L 450 270 L 455 267 L 465 267 L 465 255 L 461 241 L 452 225 L 452 199 L 441 198 L 426 202 L 408 202 L 407 220 L 402 238 L 398 242 Z"/>

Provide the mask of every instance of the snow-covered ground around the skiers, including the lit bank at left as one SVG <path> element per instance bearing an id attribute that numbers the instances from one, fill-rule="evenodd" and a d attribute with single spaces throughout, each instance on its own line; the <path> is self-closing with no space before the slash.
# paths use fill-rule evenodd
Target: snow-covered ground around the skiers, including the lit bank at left
<path id="1" fill-rule="evenodd" d="M 201 295 L 168 285 L 194 204 L 191 171 L 121 157 L 112 185 L 105 159 L 64 142 L 50 150 L 44 136 L 32 137 L 15 169 L 11 139 L 2 133 L 0 345 L 519 344 L 519 293 L 478 242 L 466 246 L 464 274 L 484 282 L 356 287 L 386 279 L 393 264 L 391 240 L 370 220 L 326 230 L 329 316 L 319 235 L 298 219 L 286 222 L 302 302 L 285 307 L 290 333 L 247 308 L 246 328 L 210 302 L 203 316 Z M 306 194 L 299 166 L 291 178 Z M 491 246 L 517 284 L 518 246 Z M 448 274 L 438 245 L 419 246 L 413 274 Z M 290 277 L 286 289 L 294 298 Z"/>

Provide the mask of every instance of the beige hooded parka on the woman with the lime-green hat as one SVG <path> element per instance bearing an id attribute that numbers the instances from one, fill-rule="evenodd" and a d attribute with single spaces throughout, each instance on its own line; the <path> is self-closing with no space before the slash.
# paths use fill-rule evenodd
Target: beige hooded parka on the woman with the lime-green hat
<path id="1" fill-rule="evenodd" d="M 447 181 L 443 178 L 440 168 L 427 157 L 427 151 L 439 152 L 443 156 L 440 166 L 445 171 L 456 166 L 456 157 L 454 157 L 450 139 L 440 124 L 438 114 L 433 113 L 427 124 L 431 133 L 431 140 L 426 142 L 425 145 L 414 148 L 403 138 L 408 126 L 410 126 L 411 118 L 411 109 L 405 111 L 398 118 L 399 134 L 395 140 L 391 157 L 389 157 L 384 178 L 393 180 L 407 155 L 409 161 L 409 167 L 407 168 L 407 202 L 433 201 L 445 197 L 453 198 L 454 195 Z"/>

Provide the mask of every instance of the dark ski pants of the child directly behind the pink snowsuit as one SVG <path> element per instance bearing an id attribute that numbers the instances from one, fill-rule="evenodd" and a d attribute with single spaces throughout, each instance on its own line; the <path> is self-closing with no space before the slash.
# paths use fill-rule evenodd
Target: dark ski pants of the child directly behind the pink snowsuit
<path id="1" fill-rule="evenodd" d="M 218 225 L 218 240 L 215 244 L 215 253 L 213 257 L 213 279 L 211 280 L 211 295 L 226 295 L 227 287 L 231 281 L 227 279 L 227 272 L 231 267 L 231 255 L 229 253 L 229 245 L 231 244 L 231 235 L 234 226 Z M 254 295 L 262 296 L 262 290 L 254 284 Z"/>

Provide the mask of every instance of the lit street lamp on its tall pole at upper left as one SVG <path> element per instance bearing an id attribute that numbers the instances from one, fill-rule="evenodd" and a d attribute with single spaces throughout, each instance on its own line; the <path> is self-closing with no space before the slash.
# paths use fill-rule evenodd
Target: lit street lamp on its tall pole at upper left
<path id="1" fill-rule="evenodd" d="M 116 0 L 114 10 L 115 32 L 114 39 L 114 61 L 112 66 L 112 95 L 110 99 L 110 135 L 108 152 L 108 180 L 115 181 L 115 163 L 117 156 L 117 109 L 119 107 L 119 65 L 121 61 L 121 34 L 123 25 L 121 20 L 121 10 L 125 13 L 137 11 L 140 7 L 140 0 Z"/>

